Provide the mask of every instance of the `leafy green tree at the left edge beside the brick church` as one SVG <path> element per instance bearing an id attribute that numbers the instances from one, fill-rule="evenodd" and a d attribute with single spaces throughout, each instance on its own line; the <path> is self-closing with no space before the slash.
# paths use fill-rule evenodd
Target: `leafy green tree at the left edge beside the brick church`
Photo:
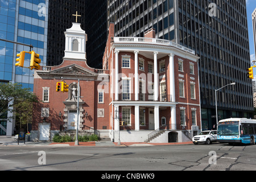
<path id="1" fill-rule="evenodd" d="M 18 108 L 21 103 L 38 102 L 34 93 L 29 88 L 22 88 L 18 83 L 0 83 L 0 117 L 7 112 L 13 113 L 15 107 Z"/>

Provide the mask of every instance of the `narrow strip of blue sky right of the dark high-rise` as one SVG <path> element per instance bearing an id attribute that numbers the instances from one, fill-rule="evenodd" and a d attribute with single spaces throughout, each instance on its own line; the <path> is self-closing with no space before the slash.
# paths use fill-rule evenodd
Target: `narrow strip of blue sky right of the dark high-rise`
<path id="1" fill-rule="evenodd" d="M 253 41 L 253 20 L 251 14 L 256 8 L 256 0 L 246 0 L 247 8 L 247 21 L 248 21 L 248 33 L 249 33 L 249 44 L 250 44 L 250 57 L 251 61 L 255 60 L 254 41 Z"/>

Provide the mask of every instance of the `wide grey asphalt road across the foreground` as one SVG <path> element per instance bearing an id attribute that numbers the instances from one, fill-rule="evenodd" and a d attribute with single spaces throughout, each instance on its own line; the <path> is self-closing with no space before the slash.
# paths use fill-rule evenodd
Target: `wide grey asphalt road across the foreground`
<path id="1" fill-rule="evenodd" d="M 255 151 L 256 145 L 230 146 L 220 143 L 135 147 L 0 146 L 0 170 L 256 170 Z"/>

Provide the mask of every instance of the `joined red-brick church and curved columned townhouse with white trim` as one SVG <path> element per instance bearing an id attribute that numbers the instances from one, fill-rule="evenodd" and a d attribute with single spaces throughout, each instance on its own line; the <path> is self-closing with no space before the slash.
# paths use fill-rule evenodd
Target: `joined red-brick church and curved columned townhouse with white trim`
<path id="1" fill-rule="evenodd" d="M 100 131 L 118 142 L 183 142 L 201 130 L 197 60 L 191 49 L 156 39 L 114 37 L 110 24 L 103 69 L 86 64 L 86 34 L 79 23 L 65 32 L 63 63 L 35 72 L 34 140 L 74 129 L 77 89 L 80 89 L 79 129 Z M 56 92 L 61 78 L 68 92 Z M 78 87 L 78 81 L 80 86 Z M 76 123 L 76 122 L 75 122 Z M 158 131 L 159 137 L 151 138 Z"/>

